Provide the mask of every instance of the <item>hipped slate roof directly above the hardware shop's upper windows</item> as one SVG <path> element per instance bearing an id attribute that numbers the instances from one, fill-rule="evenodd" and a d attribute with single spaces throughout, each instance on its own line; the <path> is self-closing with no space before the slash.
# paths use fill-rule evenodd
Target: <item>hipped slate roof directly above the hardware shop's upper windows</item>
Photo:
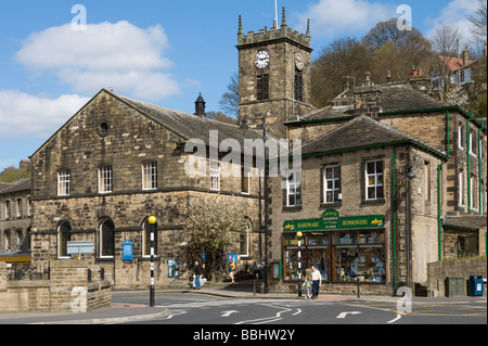
<path id="1" fill-rule="evenodd" d="M 396 143 L 413 143 L 436 155 L 444 156 L 437 150 L 398 131 L 389 126 L 360 115 L 347 124 L 326 132 L 301 148 L 301 155 L 354 151 L 364 146 L 386 146 Z"/>

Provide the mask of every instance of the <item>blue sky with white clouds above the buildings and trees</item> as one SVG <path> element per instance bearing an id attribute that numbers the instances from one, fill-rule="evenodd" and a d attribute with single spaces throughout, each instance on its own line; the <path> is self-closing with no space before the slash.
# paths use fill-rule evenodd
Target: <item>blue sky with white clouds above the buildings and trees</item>
<path id="1" fill-rule="evenodd" d="M 72 22 L 86 9 L 87 29 Z M 313 57 L 334 39 L 361 38 L 411 8 L 424 36 L 445 22 L 468 39 L 476 0 L 278 0 L 290 27 L 310 18 Z M 31 155 L 102 88 L 188 113 L 207 111 L 237 71 L 237 17 L 245 33 L 272 26 L 274 0 L 0 0 L 0 171 Z"/>

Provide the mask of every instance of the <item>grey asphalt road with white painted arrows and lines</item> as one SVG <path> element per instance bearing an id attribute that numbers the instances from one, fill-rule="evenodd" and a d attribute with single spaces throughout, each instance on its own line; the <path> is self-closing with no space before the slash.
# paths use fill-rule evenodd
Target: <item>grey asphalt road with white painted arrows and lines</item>
<path id="1" fill-rule="evenodd" d="M 114 304 L 147 304 L 147 295 L 114 295 Z M 229 298 L 202 294 L 157 294 L 156 306 L 170 315 L 143 324 L 486 324 L 486 300 L 460 304 L 414 302 L 398 312 L 396 302 Z"/>

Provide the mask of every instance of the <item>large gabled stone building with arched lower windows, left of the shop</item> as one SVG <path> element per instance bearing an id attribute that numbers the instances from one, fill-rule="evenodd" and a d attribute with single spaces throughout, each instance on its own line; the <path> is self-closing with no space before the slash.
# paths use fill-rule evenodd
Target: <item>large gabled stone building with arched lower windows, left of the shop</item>
<path id="1" fill-rule="evenodd" d="M 258 180 L 241 169 L 239 177 L 223 177 L 220 158 L 228 149 L 216 161 L 207 159 L 207 151 L 218 151 L 215 145 L 224 139 L 244 145 L 245 138 L 259 139 L 260 132 L 205 118 L 198 100 L 196 115 L 190 115 L 103 89 L 40 146 L 30 157 L 33 265 L 70 258 L 68 242 L 89 241 L 94 252 L 81 257 L 104 268 L 115 289 L 146 287 L 147 219 L 154 215 L 155 284 L 188 282 L 182 201 L 211 196 L 245 204 L 246 234 L 228 251 L 237 253 L 240 268 L 246 260 L 258 261 Z M 218 131 L 216 144 L 211 130 Z M 204 174 L 195 177 L 190 164 L 195 148 L 185 151 L 192 142 L 202 143 L 205 152 Z M 126 242 L 133 244 L 129 260 L 123 260 Z"/>

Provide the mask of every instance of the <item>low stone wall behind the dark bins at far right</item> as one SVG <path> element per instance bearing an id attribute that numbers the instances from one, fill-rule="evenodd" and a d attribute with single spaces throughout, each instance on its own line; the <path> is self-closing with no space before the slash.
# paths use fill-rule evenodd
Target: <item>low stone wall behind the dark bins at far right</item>
<path id="1" fill-rule="evenodd" d="M 480 259 L 460 259 L 436 261 L 427 265 L 428 282 L 427 294 L 431 297 L 446 296 L 446 278 L 462 278 L 466 282 L 465 293 L 467 294 L 467 281 L 470 275 L 483 275 L 487 278 L 486 258 Z M 484 296 L 487 296 L 486 285 Z"/>

